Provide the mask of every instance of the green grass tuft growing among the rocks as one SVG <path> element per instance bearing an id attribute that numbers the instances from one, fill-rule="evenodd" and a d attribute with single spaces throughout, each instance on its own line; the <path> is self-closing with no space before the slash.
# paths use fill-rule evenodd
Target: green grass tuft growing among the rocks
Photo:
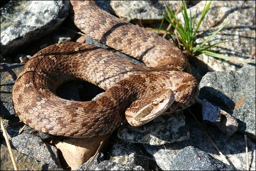
<path id="1" fill-rule="evenodd" d="M 209 51 L 212 47 L 215 47 L 215 46 L 225 43 L 227 41 L 223 41 L 223 42 L 215 43 L 210 46 L 206 46 L 206 44 L 211 40 L 211 38 L 213 38 L 217 33 L 219 33 L 225 27 L 225 25 L 227 25 L 229 20 L 227 20 L 222 25 L 222 27 L 220 29 L 218 29 L 210 37 L 208 37 L 207 40 L 202 42 L 200 45 L 197 45 L 197 43 L 196 43 L 197 31 L 198 31 L 200 24 L 202 23 L 204 17 L 206 16 L 206 14 L 211 6 L 211 3 L 212 3 L 212 1 L 210 1 L 208 4 L 206 2 L 206 4 L 204 5 L 202 14 L 201 14 L 201 18 L 200 18 L 199 22 L 196 24 L 197 10 L 196 10 L 194 17 L 192 17 L 192 15 L 191 15 L 191 10 L 188 15 L 186 3 L 185 3 L 185 1 L 182 1 L 183 7 L 181 7 L 181 12 L 182 12 L 182 15 L 184 18 L 184 25 L 176 18 L 173 11 L 171 10 L 171 8 L 166 6 L 167 7 L 167 15 L 163 14 L 163 17 L 172 25 L 172 27 L 174 28 L 174 32 L 161 29 L 164 19 L 161 22 L 159 31 L 162 30 L 171 35 L 175 35 L 177 37 L 179 46 L 180 47 L 183 46 L 183 48 L 186 51 L 186 54 L 188 56 L 195 57 L 200 54 L 206 54 L 206 55 L 209 55 L 212 57 L 226 59 L 229 61 L 234 61 L 234 62 L 239 62 L 239 63 L 247 62 L 249 59 L 237 60 L 237 59 L 227 57 L 222 54 L 217 54 L 215 52 Z"/>

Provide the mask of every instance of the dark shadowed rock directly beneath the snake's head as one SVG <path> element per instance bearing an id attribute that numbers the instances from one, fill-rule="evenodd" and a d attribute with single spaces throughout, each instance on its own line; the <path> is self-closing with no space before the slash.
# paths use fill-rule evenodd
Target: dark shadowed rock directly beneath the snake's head
<path id="1" fill-rule="evenodd" d="M 163 114 L 139 127 L 127 122 L 119 128 L 118 137 L 129 142 L 160 146 L 164 143 L 183 141 L 189 137 L 182 112 Z"/>

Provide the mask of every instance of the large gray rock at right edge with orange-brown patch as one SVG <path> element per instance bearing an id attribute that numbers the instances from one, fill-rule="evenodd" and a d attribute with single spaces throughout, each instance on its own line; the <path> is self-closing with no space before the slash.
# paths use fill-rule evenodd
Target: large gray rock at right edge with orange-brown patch
<path id="1" fill-rule="evenodd" d="M 255 139 L 255 60 L 235 71 L 209 72 L 199 84 L 200 99 L 238 119 L 238 131 Z"/>

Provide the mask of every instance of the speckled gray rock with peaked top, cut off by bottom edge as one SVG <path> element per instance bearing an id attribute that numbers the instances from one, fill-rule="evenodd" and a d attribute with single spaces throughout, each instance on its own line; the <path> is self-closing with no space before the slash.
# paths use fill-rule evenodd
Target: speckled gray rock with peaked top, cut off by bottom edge
<path id="1" fill-rule="evenodd" d="M 194 147 L 186 147 L 177 153 L 171 170 L 237 170 L 235 167 L 214 159 L 211 155 Z"/>

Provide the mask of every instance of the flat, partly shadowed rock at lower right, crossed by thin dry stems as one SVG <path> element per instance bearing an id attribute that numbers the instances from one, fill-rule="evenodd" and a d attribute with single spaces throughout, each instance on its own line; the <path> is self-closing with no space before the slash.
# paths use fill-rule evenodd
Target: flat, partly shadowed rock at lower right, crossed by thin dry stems
<path id="1" fill-rule="evenodd" d="M 146 151 L 152 155 L 157 165 L 162 170 L 170 170 L 173 160 L 177 153 L 188 147 L 193 146 L 194 148 L 200 149 L 210 155 L 215 159 L 222 161 L 228 165 L 234 165 L 237 169 L 245 170 L 246 164 L 242 161 L 246 160 L 245 152 L 245 139 L 243 135 L 234 134 L 233 136 L 227 137 L 226 134 L 222 133 L 219 129 L 215 127 L 210 127 L 205 123 L 200 122 L 202 127 L 207 131 L 207 134 L 214 141 L 215 146 L 224 155 L 220 155 L 206 134 L 202 131 L 197 122 L 190 118 L 190 115 L 185 115 L 186 125 L 189 129 L 190 137 L 187 140 L 181 142 L 167 143 L 162 146 L 150 146 L 148 144 L 143 144 Z M 248 143 L 248 155 L 251 162 L 249 162 L 249 167 L 252 170 L 255 168 L 255 143 L 250 139 L 247 140 Z M 225 159 L 228 159 L 228 161 Z M 242 164 L 244 163 L 244 164 Z M 189 163 L 183 163 L 183 165 L 189 165 Z"/>

